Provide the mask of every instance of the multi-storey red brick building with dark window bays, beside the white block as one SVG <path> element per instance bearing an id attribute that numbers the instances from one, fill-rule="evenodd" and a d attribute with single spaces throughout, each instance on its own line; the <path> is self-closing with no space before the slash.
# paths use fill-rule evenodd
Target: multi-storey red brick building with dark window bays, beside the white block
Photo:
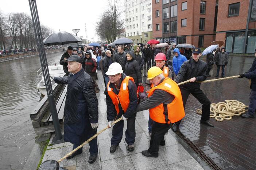
<path id="1" fill-rule="evenodd" d="M 216 0 L 152 0 L 152 4 L 154 39 L 199 47 L 215 40 Z"/>

